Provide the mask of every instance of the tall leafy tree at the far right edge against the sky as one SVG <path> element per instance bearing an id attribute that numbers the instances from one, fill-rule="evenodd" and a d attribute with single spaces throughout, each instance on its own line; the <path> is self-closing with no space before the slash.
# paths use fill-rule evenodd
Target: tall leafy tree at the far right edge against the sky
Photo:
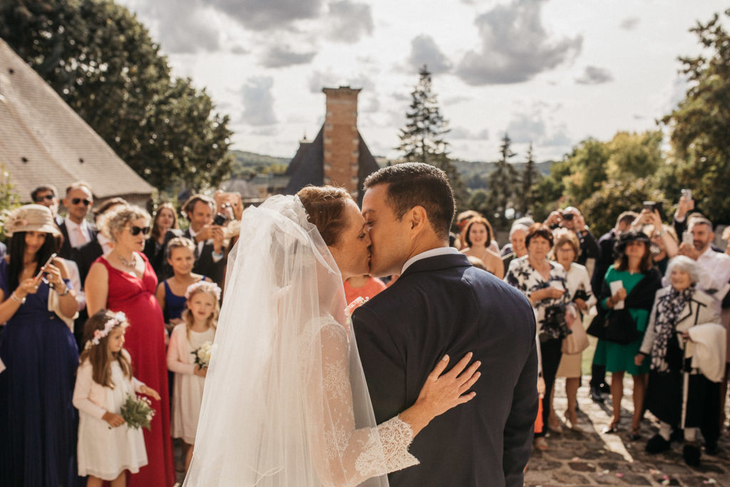
<path id="1" fill-rule="evenodd" d="M 730 18 L 730 9 L 724 12 Z M 676 110 L 662 120 L 671 131 L 670 166 L 661 171 L 667 194 L 691 188 L 694 199 L 714 221 L 730 221 L 730 35 L 715 14 L 690 29 L 705 48 L 683 57 L 690 88 Z"/>

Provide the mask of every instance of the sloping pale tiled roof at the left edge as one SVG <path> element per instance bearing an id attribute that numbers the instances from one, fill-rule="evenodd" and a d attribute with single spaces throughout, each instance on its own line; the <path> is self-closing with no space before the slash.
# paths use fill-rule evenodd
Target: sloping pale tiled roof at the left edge
<path id="1" fill-rule="evenodd" d="M 23 202 L 43 183 L 63 193 L 70 183 L 84 180 L 96 199 L 139 200 L 154 189 L 2 39 L 0 164 Z"/>

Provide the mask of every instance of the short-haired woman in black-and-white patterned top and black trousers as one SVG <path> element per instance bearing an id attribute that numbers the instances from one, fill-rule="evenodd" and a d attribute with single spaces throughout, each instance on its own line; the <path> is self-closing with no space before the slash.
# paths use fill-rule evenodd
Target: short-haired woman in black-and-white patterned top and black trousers
<path id="1" fill-rule="evenodd" d="M 567 273 L 563 266 L 548 260 L 553 247 L 553 232 L 542 223 L 530 227 L 527 237 L 527 255 L 510 263 L 504 280 L 530 300 L 537 318 L 537 337 L 542 357 L 542 376 L 545 379 L 545 397 L 542 399 L 542 423 L 550 415 L 550 393 L 555 382 L 561 358 L 561 345 L 570 329 L 565 321 Z M 545 430 L 535 434 L 535 447 L 548 448 Z"/>

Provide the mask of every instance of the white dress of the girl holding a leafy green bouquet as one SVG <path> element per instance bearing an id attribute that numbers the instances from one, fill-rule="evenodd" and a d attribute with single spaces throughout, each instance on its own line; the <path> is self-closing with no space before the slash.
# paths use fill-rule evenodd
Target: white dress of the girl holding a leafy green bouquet
<path id="1" fill-rule="evenodd" d="M 102 480 L 114 480 L 125 470 L 139 472 L 147 465 L 147 450 L 142 429 L 126 424 L 110 428 L 101 419 L 107 411 L 120 414 L 127 395 L 144 386 L 139 380 L 124 376 L 117 361 L 112 362 L 112 382 L 115 388 L 104 387 L 92 378 L 91 364 L 80 365 L 74 388 L 74 406 L 79 410 L 79 439 L 77 457 L 79 475 L 93 475 Z M 101 399 L 101 398 L 104 399 Z"/>

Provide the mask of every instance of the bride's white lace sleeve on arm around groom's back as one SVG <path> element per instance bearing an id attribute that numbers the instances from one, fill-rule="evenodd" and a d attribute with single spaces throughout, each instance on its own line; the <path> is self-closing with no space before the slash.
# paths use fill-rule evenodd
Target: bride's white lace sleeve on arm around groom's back
<path id="1" fill-rule="evenodd" d="M 323 483 L 356 486 L 368 478 L 418 464 L 418 459 L 408 453 L 412 430 L 399 416 L 378 426 L 356 428 L 347 333 L 342 325 L 331 323 L 320 330 L 320 339 L 323 376 L 320 414 L 322 410 L 324 414 L 320 416 L 319 448 L 312 450 L 320 456 L 315 464 Z M 316 407 L 316 394 L 309 402 Z M 312 409 L 312 413 L 316 414 L 316 410 Z"/>

